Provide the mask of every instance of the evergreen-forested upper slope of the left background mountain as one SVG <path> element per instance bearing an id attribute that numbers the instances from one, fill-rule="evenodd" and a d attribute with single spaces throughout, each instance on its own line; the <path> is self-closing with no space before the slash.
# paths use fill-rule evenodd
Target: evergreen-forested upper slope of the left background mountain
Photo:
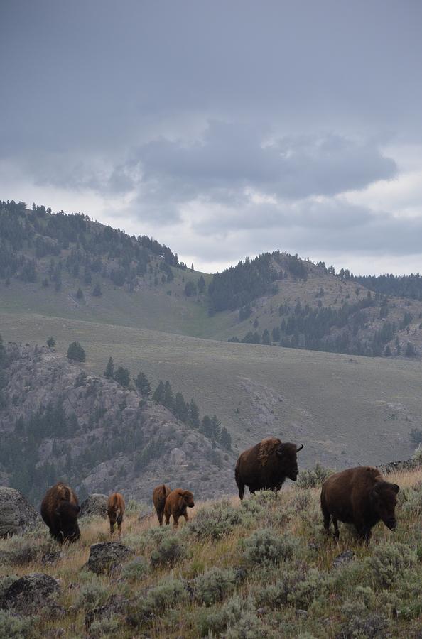
<path id="1" fill-rule="evenodd" d="M 53 281 L 55 290 L 61 289 L 64 270 L 85 285 L 101 275 L 116 286 L 134 290 L 137 278 L 144 277 L 148 269 L 158 284 L 158 266 L 152 273 L 152 256 L 158 259 L 163 283 L 173 280 L 171 267 L 186 268 L 168 246 L 149 236 L 129 236 L 120 229 L 96 224 L 81 213 L 51 214 L 44 206 L 33 204 L 28 210 L 25 202 L 0 201 L 0 278 L 9 281 L 17 276 L 36 282 L 38 260 L 48 256 L 49 279 L 43 279 L 43 286 Z M 92 294 L 102 295 L 99 283 Z"/>

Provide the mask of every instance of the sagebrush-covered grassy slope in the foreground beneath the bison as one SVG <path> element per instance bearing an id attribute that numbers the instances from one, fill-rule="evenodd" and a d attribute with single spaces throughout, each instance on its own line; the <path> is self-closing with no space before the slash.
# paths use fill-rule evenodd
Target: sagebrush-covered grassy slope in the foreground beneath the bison
<path id="1" fill-rule="evenodd" d="M 345 525 L 338 544 L 325 535 L 318 488 L 200 503 L 178 530 L 158 529 L 153 515 L 139 520 L 131 503 L 120 541 L 133 556 L 111 575 L 84 569 L 90 546 L 109 540 L 105 520 L 81 520 L 80 542 L 50 562 L 43 557 L 58 547 L 45 527 L 2 540 L 0 591 L 44 572 L 60 592 L 55 613 L 51 604 L 35 618 L 0 613 L 0 636 L 416 639 L 422 471 L 388 479 L 401 486 L 399 525 L 391 533 L 378 524 L 369 546 Z"/>

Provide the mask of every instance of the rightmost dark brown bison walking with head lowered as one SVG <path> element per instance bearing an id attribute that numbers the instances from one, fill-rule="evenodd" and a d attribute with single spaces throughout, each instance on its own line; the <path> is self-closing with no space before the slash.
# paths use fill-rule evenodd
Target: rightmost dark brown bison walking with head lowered
<path id="1" fill-rule="evenodd" d="M 357 534 L 369 542 L 371 528 L 380 520 L 390 529 L 396 528 L 396 495 L 400 488 L 382 478 L 371 466 L 349 468 L 330 475 L 321 490 L 321 510 L 324 528 L 334 525 L 335 539 L 339 537 L 337 521 L 355 525 Z"/>

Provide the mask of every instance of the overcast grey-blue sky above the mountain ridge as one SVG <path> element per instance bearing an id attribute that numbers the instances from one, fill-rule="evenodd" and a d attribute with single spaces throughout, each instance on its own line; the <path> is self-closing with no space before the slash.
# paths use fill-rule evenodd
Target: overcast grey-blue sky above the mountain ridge
<path id="1" fill-rule="evenodd" d="M 0 199 L 422 271 L 420 0 L 1 0 Z"/>

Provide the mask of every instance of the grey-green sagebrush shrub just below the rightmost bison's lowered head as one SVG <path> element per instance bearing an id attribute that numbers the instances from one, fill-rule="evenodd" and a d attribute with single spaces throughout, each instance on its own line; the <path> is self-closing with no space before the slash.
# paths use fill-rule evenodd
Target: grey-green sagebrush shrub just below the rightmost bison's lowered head
<path id="1" fill-rule="evenodd" d="M 391 586 L 404 569 L 416 564 L 416 554 L 405 544 L 382 545 L 374 549 L 365 563 L 381 586 Z"/>

